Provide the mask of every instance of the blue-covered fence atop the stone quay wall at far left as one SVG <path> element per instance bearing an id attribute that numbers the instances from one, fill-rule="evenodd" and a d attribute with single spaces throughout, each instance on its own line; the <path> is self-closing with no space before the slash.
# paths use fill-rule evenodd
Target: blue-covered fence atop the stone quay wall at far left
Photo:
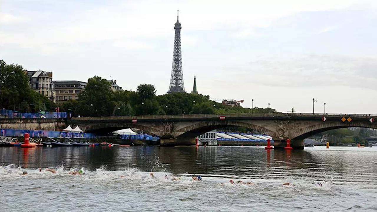
<path id="1" fill-rule="evenodd" d="M 28 113 L 0 109 L 1 118 L 67 118 L 67 112 L 39 112 Z"/>

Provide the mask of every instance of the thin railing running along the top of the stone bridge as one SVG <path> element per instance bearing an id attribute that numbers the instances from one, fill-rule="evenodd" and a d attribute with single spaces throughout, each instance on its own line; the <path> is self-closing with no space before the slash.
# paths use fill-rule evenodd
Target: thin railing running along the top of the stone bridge
<path id="1" fill-rule="evenodd" d="M 377 117 L 375 114 L 323 114 L 323 113 L 268 113 L 268 114 L 189 114 L 189 115 L 140 115 L 140 116 L 101 116 L 74 117 L 72 120 L 132 120 L 132 119 L 184 119 L 184 118 L 218 118 L 218 117 L 275 117 L 275 116 L 326 116 L 326 117 Z"/>

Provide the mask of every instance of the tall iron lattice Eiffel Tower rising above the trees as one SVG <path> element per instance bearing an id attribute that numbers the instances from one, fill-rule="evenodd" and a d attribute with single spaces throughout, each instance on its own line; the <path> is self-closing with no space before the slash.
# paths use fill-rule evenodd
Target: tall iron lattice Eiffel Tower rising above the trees
<path id="1" fill-rule="evenodd" d="M 182 71 L 182 51 L 181 51 L 181 23 L 178 21 L 174 25 L 174 51 L 173 51 L 173 65 L 172 65 L 172 77 L 170 78 L 170 86 L 168 94 L 176 92 L 185 92 L 185 85 L 183 83 L 183 71 Z"/>

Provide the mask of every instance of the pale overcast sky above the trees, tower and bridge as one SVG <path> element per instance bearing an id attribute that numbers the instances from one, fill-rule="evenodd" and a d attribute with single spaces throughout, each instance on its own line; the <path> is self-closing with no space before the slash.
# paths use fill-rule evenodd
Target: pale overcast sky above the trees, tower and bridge
<path id="1" fill-rule="evenodd" d="M 375 0 L 0 0 L 0 58 L 54 80 L 185 90 L 278 111 L 377 114 Z"/>

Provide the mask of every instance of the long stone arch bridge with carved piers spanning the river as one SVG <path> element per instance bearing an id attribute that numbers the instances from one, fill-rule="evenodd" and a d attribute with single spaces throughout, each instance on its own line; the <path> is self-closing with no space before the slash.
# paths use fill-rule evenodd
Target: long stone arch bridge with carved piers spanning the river
<path id="1" fill-rule="evenodd" d="M 162 116 L 118 116 L 72 118 L 67 123 L 85 132 L 107 134 L 125 128 L 137 128 L 161 138 L 162 146 L 193 145 L 205 132 L 238 126 L 270 135 L 275 148 L 290 138 L 294 148 L 303 148 L 303 139 L 339 128 L 375 128 L 377 115 L 366 114 L 201 114 Z"/>

